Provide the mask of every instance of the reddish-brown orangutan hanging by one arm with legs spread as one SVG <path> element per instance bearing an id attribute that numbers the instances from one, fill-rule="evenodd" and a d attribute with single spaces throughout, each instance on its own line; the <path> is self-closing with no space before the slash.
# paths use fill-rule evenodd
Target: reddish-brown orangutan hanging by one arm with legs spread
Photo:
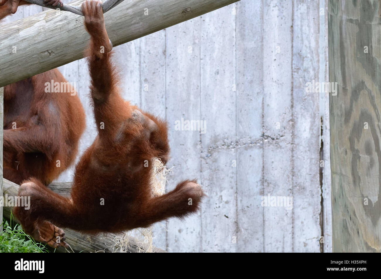
<path id="1" fill-rule="evenodd" d="M 30 209 L 14 208 L 26 233 L 52 247 L 67 245 L 62 227 L 85 233 L 147 227 L 196 212 L 204 196 L 196 180 L 152 195 L 152 161 L 168 160 L 167 124 L 120 96 L 102 2 L 86 0 L 82 12 L 90 34 L 86 56 L 98 135 L 75 168 L 70 198 L 31 178 L 19 189 L 19 196 L 30 196 Z"/>

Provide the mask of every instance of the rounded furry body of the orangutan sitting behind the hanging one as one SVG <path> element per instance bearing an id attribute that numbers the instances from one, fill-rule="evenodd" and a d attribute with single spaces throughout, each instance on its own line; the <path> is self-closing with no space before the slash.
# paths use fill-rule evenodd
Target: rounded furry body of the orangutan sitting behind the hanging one
<path id="1" fill-rule="evenodd" d="M 4 178 L 17 184 L 30 176 L 49 184 L 77 154 L 82 104 L 76 93 L 45 92 L 51 80 L 67 82 L 54 69 L 4 87 Z"/>

